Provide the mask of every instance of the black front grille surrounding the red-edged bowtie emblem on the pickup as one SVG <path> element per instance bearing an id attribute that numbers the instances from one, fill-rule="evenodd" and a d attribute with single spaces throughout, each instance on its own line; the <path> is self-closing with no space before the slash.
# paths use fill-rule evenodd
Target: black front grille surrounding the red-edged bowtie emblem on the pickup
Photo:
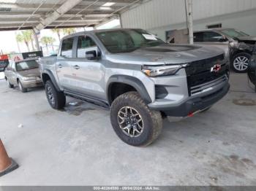
<path id="1" fill-rule="evenodd" d="M 224 55 L 218 55 L 213 58 L 190 63 L 186 68 L 189 95 L 201 93 L 206 88 L 226 80 L 227 66 L 223 61 Z M 219 63 L 222 68 L 218 72 L 211 72 L 211 67 L 217 63 Z"/>

